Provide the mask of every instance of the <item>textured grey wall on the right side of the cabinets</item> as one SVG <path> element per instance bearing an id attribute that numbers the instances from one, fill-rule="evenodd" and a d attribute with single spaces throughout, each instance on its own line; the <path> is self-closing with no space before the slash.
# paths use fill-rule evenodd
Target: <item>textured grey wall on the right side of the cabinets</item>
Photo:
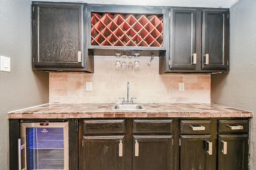
<path id="1" fill-rule="evenodd" d="M 230 73 L 212 75 L 212 103 L 256 113 L 256 1 L 230 8 Z M 256 169 L 256 119 L 252 118 L 251 170 Z M 254 162 L 254 163 L 253 163 Z"/>

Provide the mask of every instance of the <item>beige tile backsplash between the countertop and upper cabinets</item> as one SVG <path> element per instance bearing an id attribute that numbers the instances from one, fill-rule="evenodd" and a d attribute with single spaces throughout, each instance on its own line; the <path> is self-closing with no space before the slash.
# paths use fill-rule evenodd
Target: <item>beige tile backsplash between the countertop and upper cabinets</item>
<path id="1" fill-rule="evenodd" d="M 118 97 L 126 98 L 129 82 L 134 102 L 210 103 L 210 74 L 159 75 L 159 57 L 150 66 L 150 57 L 138 59 L 139 70 L 116 70 L 115 57 L 94 56 L 93 74 L 51 72 L 49 102 L 118 102 Z M 92 82 L 92 91 L 85 90 L 86 82 Z M 184 82 L 184 92 L 178 90 L 179 82 Z"/>

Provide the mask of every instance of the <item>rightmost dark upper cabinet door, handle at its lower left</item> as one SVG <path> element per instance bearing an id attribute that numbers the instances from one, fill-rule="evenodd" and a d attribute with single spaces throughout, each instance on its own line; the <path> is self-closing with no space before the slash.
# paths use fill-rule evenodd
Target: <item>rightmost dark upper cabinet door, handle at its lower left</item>
<path id="1" fill-rule="evenodd" d="M 203 10 L 202 69 L 228 71 L 229 19 L 228 10 Z"/>

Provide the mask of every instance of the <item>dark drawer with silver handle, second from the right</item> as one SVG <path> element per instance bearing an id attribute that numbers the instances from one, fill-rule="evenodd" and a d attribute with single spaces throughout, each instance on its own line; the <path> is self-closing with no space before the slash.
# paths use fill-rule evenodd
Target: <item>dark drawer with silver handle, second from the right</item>
<path id="1" fill-rule="evenodd" d="M 181 134 L 210 134 L 211 121 L 210 120 L 181 120 L 180 133 Z"/>

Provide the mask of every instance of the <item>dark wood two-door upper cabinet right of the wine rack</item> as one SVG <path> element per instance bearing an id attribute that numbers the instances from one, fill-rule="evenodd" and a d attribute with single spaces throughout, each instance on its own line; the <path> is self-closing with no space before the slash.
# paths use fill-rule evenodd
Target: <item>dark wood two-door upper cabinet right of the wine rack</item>
<path id="1" fill-rule="evenodd" d="M 159 73 L 229 71 L 229 10 L 170 8 L 170 49 Z"/>

